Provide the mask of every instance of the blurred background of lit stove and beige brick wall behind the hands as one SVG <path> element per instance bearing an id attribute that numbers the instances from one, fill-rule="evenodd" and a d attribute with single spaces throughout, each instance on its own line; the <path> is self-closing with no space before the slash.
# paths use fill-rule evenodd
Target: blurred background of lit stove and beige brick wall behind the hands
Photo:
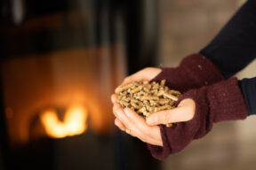
<path id="1" fill-rule="evenodd" d="M 114 126 L 110 95 L 204 48 L 241 0 L 1 0 L 0 169 L 254 169 L 254 117 L 164 161 Z M 253 62 L 239 78 L 254 77 Z"/>

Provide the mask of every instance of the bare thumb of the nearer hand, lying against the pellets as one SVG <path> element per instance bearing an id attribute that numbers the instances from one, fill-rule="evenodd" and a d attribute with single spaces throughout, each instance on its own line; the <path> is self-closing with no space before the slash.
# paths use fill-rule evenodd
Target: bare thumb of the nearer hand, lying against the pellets
<path id="1" fill-rule="evenodd" d="M 188 121 L 194 118 L 195 112 L 195 101 L 190 98 L 186 98 L 182 100 L 178 107 L 175 109 L 154 112 L 150 114 L 147 118 L 147 124 L 149 126 L 154 126 L 167 123 Z"/>

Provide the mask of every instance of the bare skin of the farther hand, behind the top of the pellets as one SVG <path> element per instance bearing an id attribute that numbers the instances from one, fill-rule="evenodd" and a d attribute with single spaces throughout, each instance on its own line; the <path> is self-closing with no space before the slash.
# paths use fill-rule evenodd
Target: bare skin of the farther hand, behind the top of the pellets
<path id="1" fill-rule="evenodd" d="M 140 70 L 137 73 L 133 73 L 132 75 L 126 77 L 124 79 L 124 81 L 121 83 L 122 84 L 128 84 L 130 82 L 133 81 L 151 81 L 152 79 L 154 79 L 156 77 L 156 75 L 158 75 L 159 73 L 161 73 L 161 69 L 160 68 L 155 68 L 155 67 L 147 67 L 144 68 L 142 70 Z M 118 90 L 119 87 L 116 88 L 115 91 Z"/>

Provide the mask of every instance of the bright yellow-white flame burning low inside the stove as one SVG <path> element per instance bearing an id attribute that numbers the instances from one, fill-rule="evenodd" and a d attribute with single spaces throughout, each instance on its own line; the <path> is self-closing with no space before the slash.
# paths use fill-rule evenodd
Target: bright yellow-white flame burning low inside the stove
<path id="1" fill-rule="evenodd" d="M 80 135 L 87 129 L 88 112 L 83 106 L 72 106 L 65 112 L 64 120 L 60 121 L 54 110 L 47 110 L 40 115 L 45 132 L 54 138 Z"/>

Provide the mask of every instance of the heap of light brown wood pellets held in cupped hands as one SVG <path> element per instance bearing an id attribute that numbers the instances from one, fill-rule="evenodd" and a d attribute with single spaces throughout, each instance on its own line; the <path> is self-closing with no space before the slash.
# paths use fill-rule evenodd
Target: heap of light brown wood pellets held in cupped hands
<path id="1" fill-rule="evenodd" d="M 175 102 L 181 96 L 180 91 L 169 89 L 165 80 L 159 83 L 153 81 L 132 82 L 121 85 L 117 91 L 117 103 L 122 107 L 131 108 L 133 111 L 147 117 L 151 112 L 173 109 Z M 166 124 L 172 127 L 172 123 Z"/>

